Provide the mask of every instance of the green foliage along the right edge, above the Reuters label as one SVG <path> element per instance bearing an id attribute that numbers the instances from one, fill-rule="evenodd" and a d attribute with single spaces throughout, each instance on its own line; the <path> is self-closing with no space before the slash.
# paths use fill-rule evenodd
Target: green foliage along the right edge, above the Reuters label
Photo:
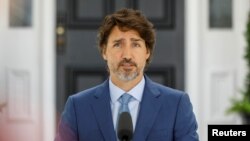
<path id="1" fill-rule="evenodd" d="M 244 59 L 247 62 L 247 75 L 245 80 L 244 92 L 242 92 L 241 99 L 232 99 L 232 106 L 227 110 L 227 113 L 250 114 L 250 15 L 246 26 L 246 50 Z"/>

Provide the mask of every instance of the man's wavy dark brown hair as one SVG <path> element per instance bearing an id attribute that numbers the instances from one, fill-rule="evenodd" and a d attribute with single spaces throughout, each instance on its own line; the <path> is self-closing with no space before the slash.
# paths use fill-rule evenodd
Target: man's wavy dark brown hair
<path id="1" fill-rule="evenodd" d="M 140 37 L 145 40 L 147 50 L 150 56 L 147 65 L 152 59 L 155 46 L 155 30 L 153 24 L 139 11 L 134 9 L 123 8 L 113 14 L 107 15 L 98 33 L 98 48 L 101 54 L 106 50 L 106 45 L 111 30 L 114 26 L 118 26 L 121 30 L 136 30 Z"/>

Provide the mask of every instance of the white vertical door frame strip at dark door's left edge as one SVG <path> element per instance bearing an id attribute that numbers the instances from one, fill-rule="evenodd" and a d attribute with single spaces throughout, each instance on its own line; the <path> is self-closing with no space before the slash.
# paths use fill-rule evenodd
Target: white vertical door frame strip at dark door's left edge
<path id="1" fill-rule="evenodd" d="M 42 108 L 43 108 L 43 140 L 51 141 L 56 131 L 56 52 L 55 25 L 56 0 L 41 2 L 41 64 L 42 64 Z"/>

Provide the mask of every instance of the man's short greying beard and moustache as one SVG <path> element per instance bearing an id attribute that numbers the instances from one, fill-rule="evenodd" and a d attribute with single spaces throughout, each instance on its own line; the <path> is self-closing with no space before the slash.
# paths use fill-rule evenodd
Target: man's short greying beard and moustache
<path id="1" fill-rule="evenodd" d="M 124 65 L 133 66 L 136 69 L 124 69 L 122 68 Z M 117 67 L 113 67 L 112 71 L 120 80 L 125 82 L 134 80 L 140 74 L 140 68 L 138 68 L 138 65 L 130 59 L 122 60 L 121 62 L 119 62 Z"/>

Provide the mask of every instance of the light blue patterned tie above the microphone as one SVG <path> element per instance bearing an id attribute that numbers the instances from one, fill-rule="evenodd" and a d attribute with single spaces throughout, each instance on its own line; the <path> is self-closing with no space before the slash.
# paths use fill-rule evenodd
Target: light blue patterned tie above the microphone
<path id="1" fill-rule="evenodd" d="M 120 109 L 119 109 L 119 115 L 122 112 L 129 112 L 128 103 L 133 98 L 133 96 L 125 93 L 119 98 L 119 102 L 121 103 Z"/>

